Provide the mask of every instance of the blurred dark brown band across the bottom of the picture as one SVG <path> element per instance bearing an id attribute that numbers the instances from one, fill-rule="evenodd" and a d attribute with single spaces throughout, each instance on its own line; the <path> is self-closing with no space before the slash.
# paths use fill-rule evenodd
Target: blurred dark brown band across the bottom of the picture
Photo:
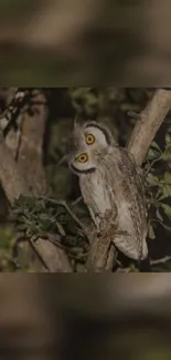
<path id="1" fill-rule="evenodd" d="M 0 359 L 169 360 L 170 301 L 169 274 L 1 275 Z"/>

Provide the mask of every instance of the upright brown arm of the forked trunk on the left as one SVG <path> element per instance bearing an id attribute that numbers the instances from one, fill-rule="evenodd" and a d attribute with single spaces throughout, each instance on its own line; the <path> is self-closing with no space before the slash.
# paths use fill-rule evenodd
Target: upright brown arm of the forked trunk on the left
<path id="1" fill-rule="evenodd" d="M 22 114 L 17 162 L 31 192 L 39 195 L 45 193 L 47 185 L 43 167 L 43 141 L 49 110 L 45 96 L 40 90 L 34 91 L 34 102 L 33 114 Z"/>

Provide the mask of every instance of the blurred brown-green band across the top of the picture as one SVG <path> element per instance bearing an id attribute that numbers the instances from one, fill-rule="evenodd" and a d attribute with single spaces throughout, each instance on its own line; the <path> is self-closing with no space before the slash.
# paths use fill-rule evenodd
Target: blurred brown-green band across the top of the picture
<path id="1" fill-rule="evenodd" d="M 169 0 L 1 0 L 1 84 L 170 85 Z"/>

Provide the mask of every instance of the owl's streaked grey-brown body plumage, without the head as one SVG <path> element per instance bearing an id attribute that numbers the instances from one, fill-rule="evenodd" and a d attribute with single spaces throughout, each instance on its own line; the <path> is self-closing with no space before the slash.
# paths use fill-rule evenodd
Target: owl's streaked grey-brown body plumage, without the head
<path id="1" fill-rule="evenodd" d="M 128 153 L 109 147 L 101 156 L 96 172 L 81 175 L 81 189 L 90 215 L 98 226 L 98 214 L 106 209 L 117 213 L 118 227 L 127 236 L 114 236 L 116 247 L 128 257 L 139 260 L 148 255 L 147 213 L 140 176 Z"/>

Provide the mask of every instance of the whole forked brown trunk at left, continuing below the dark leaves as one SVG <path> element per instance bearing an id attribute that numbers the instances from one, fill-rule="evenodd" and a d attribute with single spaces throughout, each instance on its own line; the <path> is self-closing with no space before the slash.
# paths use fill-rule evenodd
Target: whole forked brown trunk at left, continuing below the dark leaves
<path id="1" fill-rule="evenodd" d="M 43 111 L 43 105 L 40 106 L 40 112 L 33 119 L 25 115 L 18 162 L 15 151 L 9 148 L 3 132 L 0 131 L 0 182 L 10 204 L 20 195 L 44 193 L 46 187 L 42 165 L 42 144 L 47 110 Z M 72 266 L 63 249 L 42 238 L 36 240 L 34 248 L 46 264 L 49 271 L 72 272 Z"/>

